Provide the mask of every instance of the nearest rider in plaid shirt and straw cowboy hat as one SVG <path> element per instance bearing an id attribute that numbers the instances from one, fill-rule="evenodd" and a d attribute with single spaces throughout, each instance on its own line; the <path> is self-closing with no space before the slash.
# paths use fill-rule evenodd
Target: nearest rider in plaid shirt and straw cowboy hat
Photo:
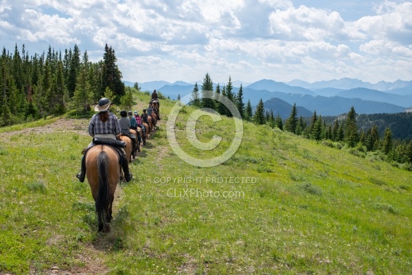
<path id="1" fill-rule="evenodd" d="M 121 133 L 119 121 L 114 113 L 108 111 L 109 107 L 111 106 L 111 101 L 108 98 L 101 98 L 99 100 L 99 104 L 96 105 L 95 111 L 96 113 L 93 115 L 89 122 L 89 135 L 94 137 L 98 137 L 99 139 L 106 139 L 106 140 L 116 140 L 116 135 Z M 87 146 L 87 148 L 93 146 L 93 141 Z M 87 149 L 86 149 L 87 150 Z M 130 181 L 133 175 L 130 173 L 128 169 L 128 161 L 126 157 L 126 153 L 122 148 L 122 167 L 124 172 L 124 177 L 126 181 Z M 84 177 L 86 175 L 86 153 L 84 153 L 82 157 L 82 168 L 76 177 L 79 179 L 80 182 L 84 181 Z"/>

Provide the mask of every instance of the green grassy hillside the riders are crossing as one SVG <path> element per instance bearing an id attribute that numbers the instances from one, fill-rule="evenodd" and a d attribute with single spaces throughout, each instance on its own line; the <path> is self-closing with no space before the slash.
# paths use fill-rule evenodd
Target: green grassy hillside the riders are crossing
<path id="1" fill-rule="evenodd" d="M 108 274 L 412 272 L 411 172 L 249 122 L 231 159 L 191 166 L 166 131 L 207 159 L 229 146 L 233 121 L 202 117 L 196 137 L 222 142 L 194 149 L 191 107 L 166 129 L 173 104 L 162 101 L 159 130 L 130 166 L 135 179 L 117 190 L 110 234 L 96 232 L 89 186 L 74 177 L 87 120 L 62 131 L 1 129 L 0 271 L 92 274 L 82 255 L 93 247 Z"/>

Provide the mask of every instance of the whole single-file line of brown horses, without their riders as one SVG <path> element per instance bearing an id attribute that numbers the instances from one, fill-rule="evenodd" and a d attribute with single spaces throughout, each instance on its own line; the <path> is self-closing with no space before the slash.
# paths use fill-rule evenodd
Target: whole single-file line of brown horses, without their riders
<path id="1" fill-rule="evenodd" d="M 159 102 L 156 102 L 155 107 L 159 110 Z M 159 120 L 158 115 L 158 111 L 153 112 L 151 116 L 148 116 L 149 123 L 142 122 L 146 129 L 145 135 L 140 127 L 137 127 L 137 130 L 130 129 L 136 137 L 137 146 L 135 148 L 133 148 L 130 137 L 119 135 L 119 139 L 126 144 L 124 151 L 129 164 L 132 162 L 132 158 L 136 158 L 137 152 L 140 152 L 139 137 L 141 137 L 143 145 L 146 145 L 146 140 L 156 130 L 155 124 Z M 117 149 L 107 144 L 95 145 L 86 154 L 86 177 L 95 200 L 99 232 L 110 232 L 111 230 L 110 222 L 113 219 L 112 206 L 115 190 L 119 181 L 124 179 L 120 162 L 121 156 Z"/>

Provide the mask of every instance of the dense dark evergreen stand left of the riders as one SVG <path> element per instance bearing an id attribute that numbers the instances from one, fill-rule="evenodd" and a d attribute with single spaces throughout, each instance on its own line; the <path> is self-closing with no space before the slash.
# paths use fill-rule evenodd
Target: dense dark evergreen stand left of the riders
<path id="1" fill-rule="evenodd" d="M 0 56 L 0 126 L 61 115 L 88 112 L 102 97 L 130 104 L 112 47 L 104 47 L 102 61 L 93 63 L 85 50 L 54 50 L 31 55 L 23 45 L 14 52 L 3 47 Z"/>

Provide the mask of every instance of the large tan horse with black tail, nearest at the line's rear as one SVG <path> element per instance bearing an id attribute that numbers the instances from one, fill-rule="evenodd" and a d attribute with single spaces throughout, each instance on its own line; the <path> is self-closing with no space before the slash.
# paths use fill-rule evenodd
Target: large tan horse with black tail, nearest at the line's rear
<path id="1" fill-rule="evenodd" d="M 108 145 L 96 145 L 86 154 L 86 177 L 95 200 L 99 232 L 110 232 L 112 205 L 120 178 L 119 154 Z"/>

